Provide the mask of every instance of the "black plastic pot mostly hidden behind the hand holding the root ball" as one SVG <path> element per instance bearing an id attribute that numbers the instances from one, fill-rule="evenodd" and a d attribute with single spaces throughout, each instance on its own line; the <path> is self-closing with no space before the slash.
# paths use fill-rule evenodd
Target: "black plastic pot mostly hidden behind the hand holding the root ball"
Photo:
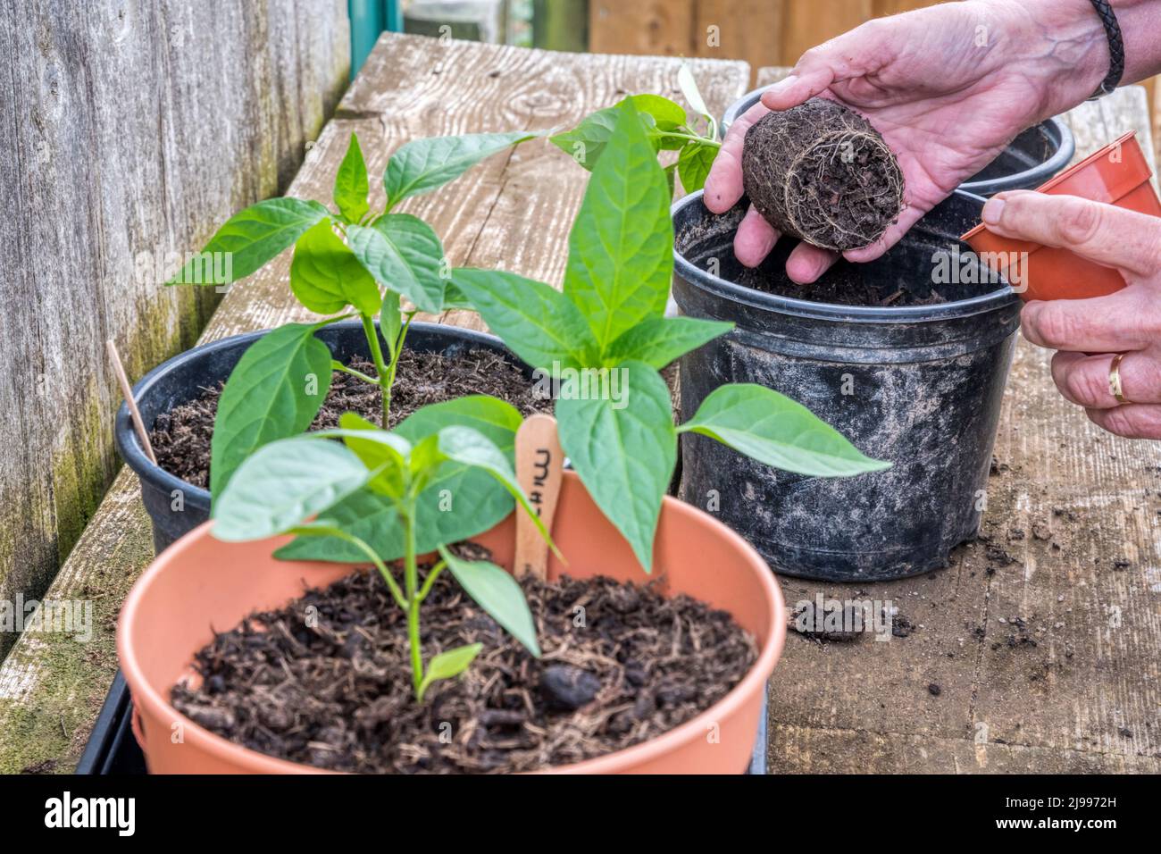
<path id="1" fill-rule="evenodd" d="M 765 87 L 748 92 L 730 105 L 717 125 L 722 138 L 734 120 L 756 105 L 763 92 Z M 1000 157 L 959 188 L 982 196 L 1005 189 L 1036 189 L 1067 166 L 1075 152 L 1073 131 L 1059 119 L 1048 119 L 1012 139 Z"/>

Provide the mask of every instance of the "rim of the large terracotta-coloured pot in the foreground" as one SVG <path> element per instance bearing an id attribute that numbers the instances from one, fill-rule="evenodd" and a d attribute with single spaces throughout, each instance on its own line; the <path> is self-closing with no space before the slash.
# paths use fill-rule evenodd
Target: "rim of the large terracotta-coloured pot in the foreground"
<path id="1" fill-rule="evenodd" d="M 564 476 L 579 480 L 575 472 L 565 472 Z M 735 546 L 741 547 L 743 554 L 749 555 L 750 560 L 748 564 L 762 586 L 771 624 L 769 637 L 758 651 L 757 660 L 753 665 L 751 665 L 750 669 L 747 670 L 745 676 L 743 676 L 742 680 L 734 686 L 724 697 L 719 699 L 708 709 L 690 718 L 684 724 L 679 724 L 656 738 L 633 745 L 632 747 L 626 747 L 621 751 L 586 759 L 582 762 L 550 766 L 548 768 L 529 773 L 618 773 L 627 766 L 647 762 L 658 755 L 669 753 L 691 739 L 704 738 L 707 724 L 714 720 L 720 720 L 724 716 L 737 711 L 738 708 L 743 705 L 747 695 L 750 695 L 756 690 L 765 691 L 767 675 L 773 672 L 774 665 L 777 665 L 778 660 L 781 658 L 783 648 L 786 645 L 786 603 L 783 597 L 781 587 L 776 581 L 774 573 L 753 550 L 753 546 L 747 543 L 738 533 L 735 533 L 733 530 L 727 528 L 722 522 L 719 522 L 708 514 L 700 511 L 698 508 L 666 495 L 662 502 L 662 511 L 677 514 L 679 517 L 678 524 L 682 526 L 707 525 L 714 529 L 719 536 L 733 541 Z M 171 565 L 180 560 L 181 555 L 192 547 L 195 540 L 209 537 L 209 529 L 212 524 L 212 521 L 203 522 L 193 531 L 183 534 L 160 555 L 154 558 L 153 562 L 146 567 L 145 572 L 142 573 L 142 576 L 134 583 L 132 589 L 129 591 L 129 596 L 125 597 L 125 602 L 121 608 L 121 613 L 117 617 L 117 658 L 121 661 L 121 670 L 125 676 L 125 681 L 130 686 L 130 694 L 134 703 L 147 706 L 154 715 L 160 713 L 173 720 L 182 722 L 182 733 L 187 742 L 192 742 L 208 753 L 215 754 L 236 766 L 239 766 L 246 772 L 260 774 L 341 773 L 324 768 L 315 768 L 313 766 L 301 762 L 291 762 L 286 759 L 267 756 L 266 754 L 252 751 L 248 747 L 236 745 L 229 739 L 210 732 L 179 712 L 153 688 L 152 684 L 150 684 L 146 679 L 143 677 L 136 652 L 128 641 L 129 632 L 125 626 L 134 622 L 135 615 L 143 608 L 142 600 L 145 597 L 149 588 L 157 582 L 158 577 L 160 577 Z M 355 567 L 352 567 L 352 570 L 354 570 L 354 568 Z M 194 651 L 190 651 L 190 653 L 193 652 Z M 138 715 L 137 709 L 134 710 L 134 715 Z"/>

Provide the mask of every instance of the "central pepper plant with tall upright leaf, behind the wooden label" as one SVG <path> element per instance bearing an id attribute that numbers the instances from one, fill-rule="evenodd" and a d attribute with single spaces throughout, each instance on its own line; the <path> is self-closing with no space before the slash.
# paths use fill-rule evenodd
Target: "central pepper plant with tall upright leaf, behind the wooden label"
<path id="1" fill-rule="evenodd" d="M 806 475 L 890 464 L 865 457 L 806 407 L 757 385 L 721 386 L 691 421 L 675 425 L 658 371 L 733 324 L 664 316 L 673 268 L 670 191 L 656 157 L 656 119 L 643 121 L 637 103 L 626 99 L 608 114 L 615 121 L 569 235 L 563 290 L 491 270 L 457 268 L 452 280 L 517 356 L 542 374 L 568 374 L 555 406 L 561 445 L 649 572 L 679 433 L 701 433 Z M 622 395 L 584 393 L 604 388 L 610 372 L 623 379 Z"/>

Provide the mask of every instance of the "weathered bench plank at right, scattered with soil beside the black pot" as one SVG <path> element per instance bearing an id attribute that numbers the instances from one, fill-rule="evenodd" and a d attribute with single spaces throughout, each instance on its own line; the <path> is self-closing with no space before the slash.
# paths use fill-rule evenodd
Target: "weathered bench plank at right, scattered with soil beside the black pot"
<path id="1" fill-rule="evenodd" d="M 1152 151 L 1140 87 L 1068 123 L 1077 158 L 1130 128 Z M 1161 444 L 1089 423 L 1057 393 L 1050 358 L 1017 347 L 987 539 L 920 579 L 784 580 L 792 604 L 820 593 L 889 601 L 917 627 L 822 646 L 792 633 L 770 694 L 772 769 L 1159 769 Z"/>

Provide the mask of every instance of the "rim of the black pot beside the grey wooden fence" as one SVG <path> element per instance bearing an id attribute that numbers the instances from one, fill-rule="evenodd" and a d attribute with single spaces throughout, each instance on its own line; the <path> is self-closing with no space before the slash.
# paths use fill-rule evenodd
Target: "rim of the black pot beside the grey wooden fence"
<path id="1" fill-rule="evenodd" d="M 341 329 L 344 326 L 356 328 L 360 326 L 360 322 L 356 320 L 348 321 L 337 321 L 336 323 L 329 323 L 323 326 L 319 331 L 325 329 Z M 378 320 L 375 320 L 375 326 L 378 328 Z M 160 365 L 154 367 L 152 371 L 142 376 L 136 383 L 134 383 L 134 400 L 140 401 L 150 389 L 160 379 L 176 367 L 179 364 L 195 358 L 195 354 L 208 356 L 216 353 L 219 350 L 226 350 L 229 347 L 236 346 L 238 344 L 252 344 L 262 336 L 273 332 L 276 328 L 259 329 L 253 332 L 241 332 L 239 335 L 231 335 L 225 338 L 218 338 L 205 344 L 197 344 L 189 350 L 182 350 L 180 353 L 170 357 Z M 503 340 L 497 338 L 495 335 L 489 335 L 488 332 L 481 332 L 475 329 L 464 329 L 463 326 L 453 326 L 446 323 L 427 323 L 424 321 L 413 321 L 409 328 L 410 332 L 453 332 L 455 337 L 466 338 L 470 342 L 477 344 L 488 344 L 492 346 L 500 346 L 507 350 L 507 346 Z M 409 338 L 410 338 L 409 332 Z M 509 351 L 511 352 L 511 351 Z M 149 428 L 146 428 L 149 429 Z M 146 454 L 145 450 L 142 447 L 140 439 L 137 437 L 137 431 L 134 429 L 132 419 L 129 416 L 129 406 L 122 401 L 121 406 L 117 408 L 117 416 L 114 421 L 113 429 L 114 440 L 117 446 L 117 452 L 121 454 L 121 459 L 137 473 L 139 478 L 149 478 L 156 485 L 160 486 L 166 491 L 172 493 L 178 489 L 181 490 L 185 500 L 187 502 L 203 503 L 209 505 L 210 503 L 210 490 L 204 487 L 197 487 L 193 483 L 182 480 L 178 475 L 167 472 L 151 460 Z"/>

